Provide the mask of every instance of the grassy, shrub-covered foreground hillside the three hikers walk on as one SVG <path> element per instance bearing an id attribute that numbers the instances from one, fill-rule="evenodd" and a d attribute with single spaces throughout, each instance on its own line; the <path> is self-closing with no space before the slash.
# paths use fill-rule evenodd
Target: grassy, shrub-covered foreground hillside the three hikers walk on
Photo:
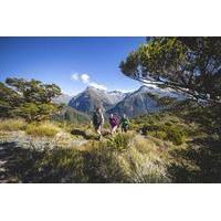
<path id="1" fill-rule="evenodd" d="M 185 101 L 131 119 L 127 134 L 105 129 L 102 141 L 90 125 L 1 122 L 0 180 L 220 182 L 219 109 Z"/>

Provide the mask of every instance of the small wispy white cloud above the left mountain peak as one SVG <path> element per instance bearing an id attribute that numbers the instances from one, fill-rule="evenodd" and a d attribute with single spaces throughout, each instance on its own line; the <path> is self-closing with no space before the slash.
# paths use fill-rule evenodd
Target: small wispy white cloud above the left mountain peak
<path id="1" fill-rule="evenodd" d="M 83 74 L 74 73 L 71 75 L 71 80 L 81 81 L 82 83 L 84 83 L 86 85 L 96 87 L 98 90 L 107 91 L 107 87 L 105 85 L 91 81 L 91 76 L 86 73 L 83 73 Z"/>

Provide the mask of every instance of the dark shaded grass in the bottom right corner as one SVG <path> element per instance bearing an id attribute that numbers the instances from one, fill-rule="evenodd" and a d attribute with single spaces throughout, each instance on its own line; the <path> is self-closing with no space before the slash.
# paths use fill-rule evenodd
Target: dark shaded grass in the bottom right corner
<path id="1" fill-rule="evenodd" d="M 201 138 L 191 141 L 191 146 L 171 152 L 181 159 L 180 164 L 172 164 L 168 168 L 173 182 L 220 183 L 221 141 Z"/>

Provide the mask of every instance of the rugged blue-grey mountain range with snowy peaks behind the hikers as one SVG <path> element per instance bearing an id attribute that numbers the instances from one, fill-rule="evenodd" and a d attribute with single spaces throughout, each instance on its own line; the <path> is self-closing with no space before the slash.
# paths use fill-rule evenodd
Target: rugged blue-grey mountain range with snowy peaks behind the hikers
<path id="1" fill-rule="evenodd" d="M 94 107 L 101 106 L 106 114 L 126 114 L 133 117 L 140 114 L 158 112 L 160 108 L 164 108 L 159 102 L 164 97 L 173 99 L 185 98 L 183 95 L 172 90 L 149 85 L 143 85 L 131 93 L 123 93 L 119 91 L 107 92 L 87 86 L 85 91 L 73 97 L 63 94 L 54 102 L 67 104 L 73 109 L 88 115 L 94 110 Z"/>

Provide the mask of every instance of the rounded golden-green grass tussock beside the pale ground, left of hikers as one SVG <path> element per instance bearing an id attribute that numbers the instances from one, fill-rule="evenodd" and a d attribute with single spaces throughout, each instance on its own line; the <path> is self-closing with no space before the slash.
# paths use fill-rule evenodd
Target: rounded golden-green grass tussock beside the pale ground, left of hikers
<path id="1" fill-rule="evenodd" d="M 52 123 L 33 123 L 27 126 L 27 134 L 32 136 L 45 136 L 45 137 L 53 137 L 55 136 L 61 129 L 52 124 Z"/>

